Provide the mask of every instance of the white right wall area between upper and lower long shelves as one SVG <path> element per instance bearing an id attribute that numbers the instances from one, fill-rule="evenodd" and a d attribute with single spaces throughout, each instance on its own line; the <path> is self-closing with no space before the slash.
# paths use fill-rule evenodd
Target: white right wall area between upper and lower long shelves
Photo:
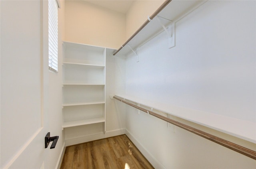
<path id="1" fill-rule="evenodd" d="M 210 3 L 176 22 L 176 47 L 140 48 L 140 63 L 127 62 L 126 92 L 255 122 L 255 12 L 241 15 L 241 9 L 234 12 L 236 4 L 228 8 L 221 2 L 207 11 Z M 217 17 L 215 11 L 225 16 Z M 236 26 L 238 17 L 241 24 Z"/>

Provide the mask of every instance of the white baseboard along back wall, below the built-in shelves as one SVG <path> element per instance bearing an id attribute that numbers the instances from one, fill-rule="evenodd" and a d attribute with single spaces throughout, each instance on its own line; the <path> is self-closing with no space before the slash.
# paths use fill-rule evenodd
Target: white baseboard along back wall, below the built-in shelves
<path id="1" fill-rule="evenodd" d="M 75 145 L 75 144 L 79 144 L 79 143 L 85 143 L 88 141 L 99 140 L 99 139 L 113 137 L 113 136 L 118 136 L 118 135 L 122 135 L 122 134 L 125 134 L 125 129 L 112 130 L 112 131 L 106 132 L 105 134 L 97 133 L 97 134 L 82 136 L 82 137 L 78 137 L 78 138 L 71 138 L 71 139 L 66 140 L 66 146 Z"/>

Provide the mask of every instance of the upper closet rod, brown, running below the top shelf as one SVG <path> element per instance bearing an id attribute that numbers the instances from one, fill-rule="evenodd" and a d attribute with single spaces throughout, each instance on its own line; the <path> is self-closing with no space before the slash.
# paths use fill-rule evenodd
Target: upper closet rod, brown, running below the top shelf
<path id="1" fill-rule="evenodd" d="M 171 1 L 172 0 L 164 1 L 164 3 L 148 18 L 148 20 L 146 20 L 146 22 L 144 22 L 144 24 L 142 24 L 142 26 L 140 26 L 140 28 L 117 51 L 115 51 L 113 55 L 116 55 L 116 53 L 118 53 L 127 43 L 129 43 L 129 41 L 132 40 L 132 38 L 134 38 L 134 36 L 136 36 L 150 22 L 150 20 L 159 14 L 159 12 L 161 12 L 162 9 L 164 9 L 164 7 L 166 7 L 166 5 L 168 5 Z"/>

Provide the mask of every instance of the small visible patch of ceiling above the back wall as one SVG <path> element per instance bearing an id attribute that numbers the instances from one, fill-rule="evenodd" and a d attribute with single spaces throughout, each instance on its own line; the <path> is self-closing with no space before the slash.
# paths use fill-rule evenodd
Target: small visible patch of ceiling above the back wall
<path id="1" fill-rule="evenodd" d="M 86 0 L 86 2 L 126 14 L 134 0 Z"/>

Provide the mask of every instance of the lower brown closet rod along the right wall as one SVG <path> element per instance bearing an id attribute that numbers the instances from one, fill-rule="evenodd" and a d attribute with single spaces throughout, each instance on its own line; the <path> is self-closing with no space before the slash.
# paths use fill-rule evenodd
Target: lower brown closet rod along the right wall
<path id="1" fill-rule="evenodd" d="M 208 139 L 208 140 L 211 140 L 211 141 L 213 141 L 213 142 L 215 142 L 215 143 L 218 143 L 218 144 L 220 144 L 220 145 L 223 145 L 224 147 L 227 147 L 227 148 L 229 148 L 229 149 L 232 149 L 232 150 L 234 150 L 234 151 L 236 151 L 236 152 L 238 152 L 238 153 L 241 153 L 241 154 L 243 154 L 243 155 L 246 155 L 247 157 L 250 157 L 250 158 L 256 160 L 256 151 L 253 151 L 253 150 L 251 150 L 251 149 L 248 149 L 248 148 L 243 147 L 243 146 L 241 146 L 241 145 L 238 145 L 238 144 L 236 144 L 236 143 L 232 143 L 232 142 L 230 142 L 230 141 L 224 140 L 224 139 L 222 139 L 222 138 L 216 137 L 216 136 L 214 136 L 214 135 L 212 135 L 212 134 L 208 134 L 208 133 L 203 132 L 203 131 L 201 131 L 201 130 L 198 130 L 198 129 L 196 129 L 196 128 L 190 127 L 190 126 L 188 126 L 188 125 L 186 125 L 186 124 L 182 124 L 182 123 L 180 123 L 180 122 L 177 122 L 177 121 L 175 121 L 175 120 L 172 120 L 172 119 L 167 118 L 167 117 L 165 117 L 165 116 L 162 116 L 162 115 L 160 115 L 160 114 L 154 113 L 154 112 L 152 112 L 151 110 L 147 110 L 147 109 L 145 109 L 145 108 L 142 108 L 142 107 L 137 106 L 137 105 L 135 105 L 135 104 L 132 104 L 132 103 L 130 103 L 130 102 L 127 102 L 127 101 L 125 101 L 125 100 L 122 100 L 121 98 L 118 98 L 117 96 L 113 96 L 113 98 L 115 98 L 116 100 L 119 100 L 119 101 L 121 101 L 121 102 L 123 102 L 123 103 L 125 103 L 125 104 L 128 104 L 128 105 L 130 105 L 130 106 L 132 106 L 132 107 L 134 107 L 134 108 L 137 108 L 137 109 L 139 109 L 139 110 L 141 110 L 141 111 L 143 111 L 143 112 L 146 112 L 146 113 L 148 113 L 148 114 L 150 114 L 150 115 L 152 115 L 152 116 L 155 116 L 155 117 L 157 117 L 157 118 L 160 118 L 160 119 L 162 119 L 162 120 L 164 120 L 164 121 L 166 121 L 166 122 L 168 122 L 168 123 L 171 123 L 171 124 L 173 124 L 173 125 L 175 125 L 175 126 L 178 126 L 178 127 L 180 127 L 180 128 L 183 128 L 184 130 L 187 130 L 187 131 L 189 131 L 189 132 L 192 132 L 192 133 L 194 133 L 194 134 L 196 134 L 196 135 L 198 135 L 198 136 L 201 136 L 201 137 L 203 137 L 203 138 L 206 138 L 206 139 Z"/>

